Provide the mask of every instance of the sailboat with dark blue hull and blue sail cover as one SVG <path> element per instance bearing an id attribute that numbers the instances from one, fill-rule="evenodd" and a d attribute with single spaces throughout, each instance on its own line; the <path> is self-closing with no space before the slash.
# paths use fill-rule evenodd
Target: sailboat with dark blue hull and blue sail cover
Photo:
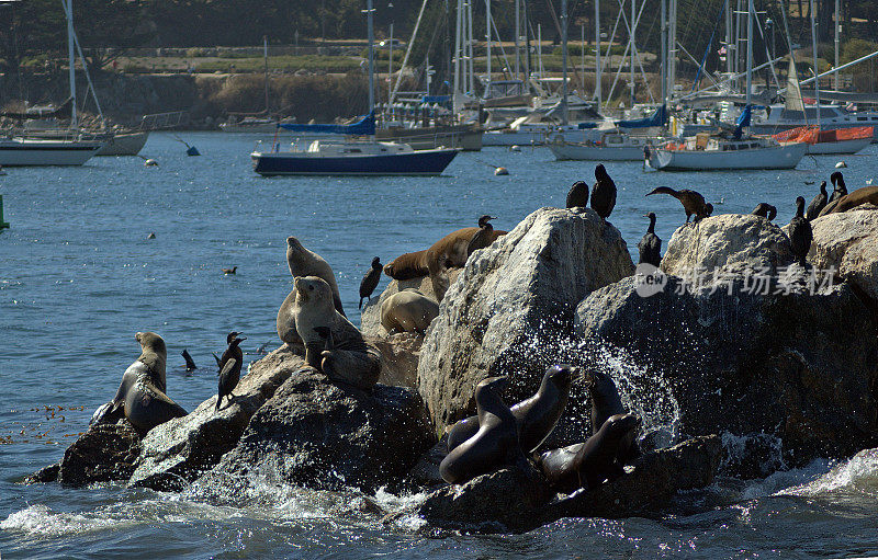
<path id="1" fill-rule="evenodd" d="M 367 2 L 369 30 L 369 114 L 351 125 L 300 125 L 279 123 L 278 128 L 305 134 L 346 135 L 344 140 L 294 141 L 280 151 L 250 153 L 254 171 L 260 175 L 438 175 L 459 150 L 437 148 L 415 151 L 399 142 L 375 141 L 372 0 Z M 367 139 L 352 138 L 365 137 Z"/>

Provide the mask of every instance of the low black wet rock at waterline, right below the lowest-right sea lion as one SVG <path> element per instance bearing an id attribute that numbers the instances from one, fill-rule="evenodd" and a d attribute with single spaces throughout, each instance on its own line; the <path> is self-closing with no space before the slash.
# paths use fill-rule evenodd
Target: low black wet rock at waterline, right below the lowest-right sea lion
<path id="1" fill-rule="evenodd" d="M 658 515 L 677 491 L 705 488 L 713 482 L 721 457 L 722 444 L 716 435 L 644 454 L 634 461 L 631 472 L 594 490 L 552 502 L 543 508 L 541 522 L 562 517 L 612 519 Z"/>

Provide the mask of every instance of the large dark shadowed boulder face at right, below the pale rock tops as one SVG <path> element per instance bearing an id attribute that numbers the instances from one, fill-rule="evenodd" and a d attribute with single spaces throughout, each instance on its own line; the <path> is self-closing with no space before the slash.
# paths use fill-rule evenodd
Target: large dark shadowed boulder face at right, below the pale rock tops
<path id="1" fill-rule="evenodd" d="M 767 287 L 780 293 L 747 294 L 741 277 L 729 289 L 693 293 L 671 276 L 664 292 L 643 298 L 626 278 L 579 305 L 576 333 L 586 347 L 624 348 L 624 369 L 648 374 L 640 390 L 668 392 L 679 434 L 776 436 L 790 466 L 878 445 L 869 309 L 846 284 L 814 295 L 802 285 L 789 294 Z"/>

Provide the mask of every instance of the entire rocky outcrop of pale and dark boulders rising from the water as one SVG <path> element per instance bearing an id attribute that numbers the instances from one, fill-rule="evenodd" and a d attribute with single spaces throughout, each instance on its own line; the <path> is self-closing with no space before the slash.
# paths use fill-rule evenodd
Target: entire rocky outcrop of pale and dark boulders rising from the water
<path id="1" fill-rule="evenodd" d="M 29 482 L 114 481 L 223 503 L 243 500 L 255 477 L 386 487 L 428 492 L 410 513 L 432 528 L 527 532 L 572 516 L 657 517 L 678 490 L 720 475 L 762 478 L 851 457 L 878 447 L 878 212 L 818 218 L 813 230 L 802 270 L 765 218 L 682 226 L 662 263 L 664 290 L 643 297 L 610 222 L 592 209 L 541 208 L 452 272 L 424 335 L 390 334 L 379 313 L 399 289 L 432 297 L 429 278 L 393 281 L 370 301 L 362 333 L 382 353 L 371 391 L 333 382 L 284 344 L 250 364 L 233 404 L 217 411 L 213 396 L 143 438 L 124 419 L 97 424 Z M 830 267 L 832 282 L 813 284 L 811 273 Z M 711 274 L 694 284 L 693 270 Z M 773 278 L 765 294 L 748 290 L 757 274 Z M 607 353 L 622 365 L 609 367 Z M 558 363 L 616 377 L 644 420 L 643 455 L 571 495 L 530 462 L 446 484 L 441 436 L 475 412 L 476 384 L 509 376 L 504 398 L 516 402 Z M 589 410 L 574 382 L 541 449 L 585 439 Z"/>

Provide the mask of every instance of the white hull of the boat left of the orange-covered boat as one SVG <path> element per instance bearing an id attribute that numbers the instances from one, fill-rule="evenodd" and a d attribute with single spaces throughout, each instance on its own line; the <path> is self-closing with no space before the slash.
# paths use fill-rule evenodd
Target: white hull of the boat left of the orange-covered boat
<path id="1" fill-rule="evenodd" d="M 804 157 L 807 150 L 807 144 L 788 144 L 740 151 L 653 148 L 650 165 L 666 171 L 793 169 Z"/>

